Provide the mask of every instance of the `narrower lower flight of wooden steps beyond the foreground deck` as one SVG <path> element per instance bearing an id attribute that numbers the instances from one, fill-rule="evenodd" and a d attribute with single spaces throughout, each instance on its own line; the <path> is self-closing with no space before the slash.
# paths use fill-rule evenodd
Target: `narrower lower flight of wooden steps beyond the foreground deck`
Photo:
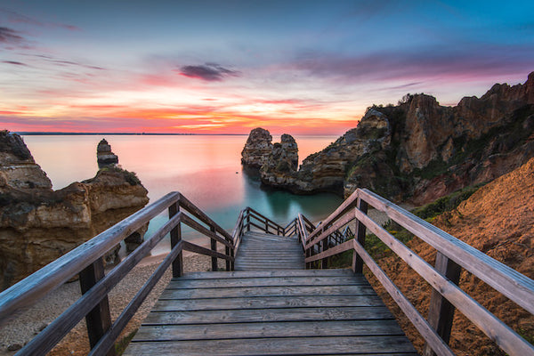
<path id="1" fill-rule="evenodd" d="M 235 261 L 236 271 L 300 270 L 303 249 L 298 239 L 249 231 L 241 239 Z"/>

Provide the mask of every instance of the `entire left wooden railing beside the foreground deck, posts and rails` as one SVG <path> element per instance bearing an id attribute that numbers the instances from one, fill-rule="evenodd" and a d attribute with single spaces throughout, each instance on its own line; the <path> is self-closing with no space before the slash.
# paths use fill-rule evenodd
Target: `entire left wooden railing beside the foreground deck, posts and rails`
<path id="1" fill-rule="evenodd" d="M 145 239 L 132 254 L 105 274 L 102 256 L 134 231 L 150 222 L 156 215 L 166 210 L 168 210 L 169 220 L 150 238 Z M 201 247 L 182 240 L 182 223 L 209 238 L 211 248 Z M 142 258 L 149 255 L 150 250 L 169 233 L 171 252 L 166 255 L 156 271 L 134 296 L 134 299 L 112 323 L 109 313 L 109 291 L 120 280 L 124 279 L 126 273 L 131 271 Z M 224 253 L 218 252 L 217 244 L 224 246 Z M 172 192 L 132 214 L 107 231 L 103 231 L 68 254 L 61 256 L 53 263 L 44 266 L 28 278 L 4 290 L 0 294 L 0 323 L 36 303 L 44 295 L 78 274 L 83 295 L 44 328 L 39 335 L 20 349 L 17 355 L 46 354 L 84 318 L 91 344 L 89 354 L 113 355 L 115 353 L 113 346 L 117 337 L 168 267 L 172 265 L 174 277 L 182 275 L 182 251 L 211 256 L 212 270 L 214 271 L 217 270 L 217 259 L 219 258 L 226 261 L 227 271 L 233 270 L 235 243 L 232 236 L 182 194 Z"/>

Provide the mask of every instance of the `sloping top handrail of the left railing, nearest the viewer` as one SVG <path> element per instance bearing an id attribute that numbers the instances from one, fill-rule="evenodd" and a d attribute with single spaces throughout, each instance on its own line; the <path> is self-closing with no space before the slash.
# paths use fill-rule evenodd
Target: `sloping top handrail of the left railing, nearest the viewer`
<path id="1" fill-rule="evenodd" d="M 117 246 L 120 241 L 164 211 L 179 197 L 180 194 L 177 192 L 167 194 L 4 290 L 0 293 L 0 323 L 20 309 L 36 303 L 44 295 L 77 275 L 97 258 Z"/>

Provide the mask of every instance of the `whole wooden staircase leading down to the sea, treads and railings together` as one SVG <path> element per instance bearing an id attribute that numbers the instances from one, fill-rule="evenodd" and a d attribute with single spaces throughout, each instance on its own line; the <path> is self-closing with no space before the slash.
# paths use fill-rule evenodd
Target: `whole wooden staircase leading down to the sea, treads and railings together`
<path id="1" fill-rule="evenodd" d="M 368 206 L 434 247 L 435 265 L 376 223 Z M 169 218 L 157 231 L 104 271 L 103 255 L 165 211 Z M 183 225 L 206 237 L 209 247 L 182 239 Z M 426 317 L 368 254 L 367 230 L 433 287 Z M 168 235 L 170 252 L 112 320 L 109 292 Z M 183 251 L 211 257 L 213 271 L 184 275 Z M 349 252 L 351 270 L 327 270 L 331 257 Z M 224 272 L 216 271 L 221 260 Z M 0 293 L 0 327 L 78 275 L 80 298 L 16 355 L 48 354 L 85 318 L 89 356 L 114 356 L 126 325 L 172 269 L 174 279 L 126 355 L 415 355 L 363 277 L 364 265 L 425 339 L 425 356 L 455 355 L 448 344 L 456 308 L 502 352 L 534 356 L 532 344 L 457 286 L 461 271 L 469 271 L 534 315 L 534 280 L 362 189 L 320 224 L 298 214 L 284 227 L 246 207 L 231 233 L 180 192 L 170 192 Z"/>

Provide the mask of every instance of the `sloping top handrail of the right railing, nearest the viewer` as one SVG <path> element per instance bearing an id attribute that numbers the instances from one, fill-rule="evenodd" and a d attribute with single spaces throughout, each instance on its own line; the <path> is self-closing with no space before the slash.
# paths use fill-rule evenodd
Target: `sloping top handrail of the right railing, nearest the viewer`
<path id="1" fill-rule="evenodd" d="M 499 263 L 465 242 L 441 231 L 431 223 L 418 218 L 369 190 L 361 190 L 362 198 L 376 209 L 383 211 L 392 220 L 446 255 L 451 260 L 472 272 L 476 277 L 494 287 L 507 298 L 534 314 L 534 280 Z"/>

